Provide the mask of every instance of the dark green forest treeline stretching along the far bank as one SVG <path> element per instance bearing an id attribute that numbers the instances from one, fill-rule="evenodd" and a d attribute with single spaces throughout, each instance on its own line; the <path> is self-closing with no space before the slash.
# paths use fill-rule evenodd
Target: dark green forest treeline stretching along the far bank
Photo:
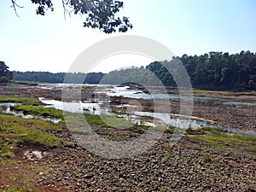
<path id="1" fill-rule="evenodd" d="M 157 85 L 157 79 L 166 86 L 175 87 L 182 79 L 178 68 L 184 66 L 193 88 L 205 90 L 256 90 L 256 55 L 250 51 L 239 54 L 209 52 L 204 55 L 183 55 L 170 61 L 154 61 L 146 67 L 131 67 L 104 73 L 88 73 L 87 84 L 123 84 L 139 82 Z M 172 72 L 172 75 L 171 73 Z M 62 83 L 66 73 L 14 72 L 15 80 Z M 73 83 L 84 78 L 84 73 L 73 73 Z"/>

